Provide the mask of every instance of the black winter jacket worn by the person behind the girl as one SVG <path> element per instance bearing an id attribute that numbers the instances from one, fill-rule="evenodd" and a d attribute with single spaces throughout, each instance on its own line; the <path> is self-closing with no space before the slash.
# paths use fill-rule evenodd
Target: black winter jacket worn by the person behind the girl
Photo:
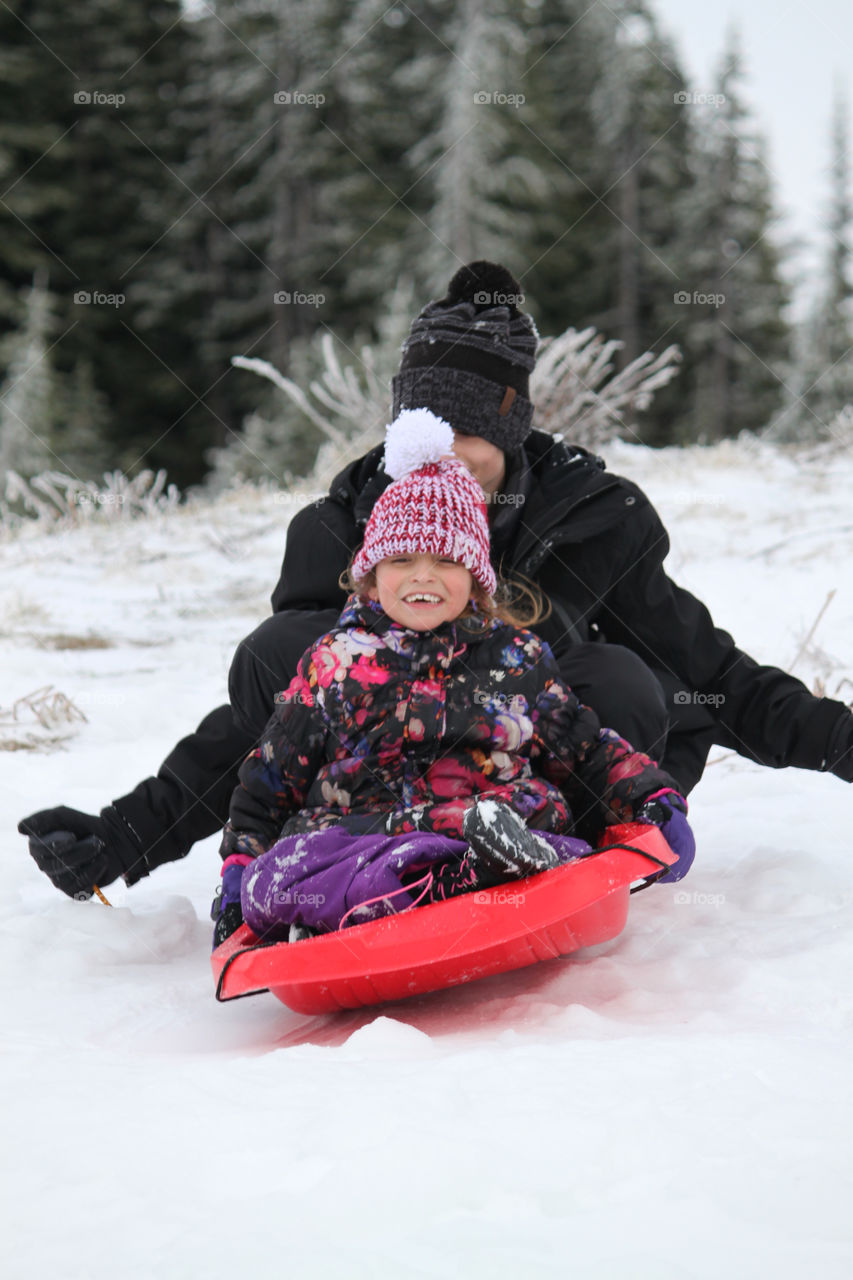
<path id="1" fill-rule="evenodd" d="M 272 598 L 275 613 L 287 611 L 292 653 L 278 687 L 343 608 L 338 576 L 389 484 L 382 454 L 378 445 L 347 466 L 325 499 L 291 521 Z M 815 698 L 777 667 L 758 664 L 715 626 L 695 596 L 670 580 L 663 570 L 666 530 L 630 480 L 606 471 L 585 449 L 534 430 L 520 454 L 508 460 L 498 499 L 492 520 L 496 568 L 505 577 L 525 575 L 551 599 L 553 613 L 537 623 L 537 632 L 558 664 L 581 641 L 622 645 L 665 686 L 676 722 L 685 710 L 679 703 L 701 701 L 712 741 L 772 768 L 829 769 L 853 781 L 850 710 Z M 241 646 L 250 658 L 254 635 Z M 236 667 L 232 705 L 205 717 L 156 777 L 114 801 L 136 832 L 149 870 L 183 856 L 228 817 L 237 769 L 264 728 L 270 700 L 256 662 L 243 662 L 240 685 Z M 251 717 L 245 713 L 248 704 Z M 674 767 L 671 772 L 679 773 Z"/>

